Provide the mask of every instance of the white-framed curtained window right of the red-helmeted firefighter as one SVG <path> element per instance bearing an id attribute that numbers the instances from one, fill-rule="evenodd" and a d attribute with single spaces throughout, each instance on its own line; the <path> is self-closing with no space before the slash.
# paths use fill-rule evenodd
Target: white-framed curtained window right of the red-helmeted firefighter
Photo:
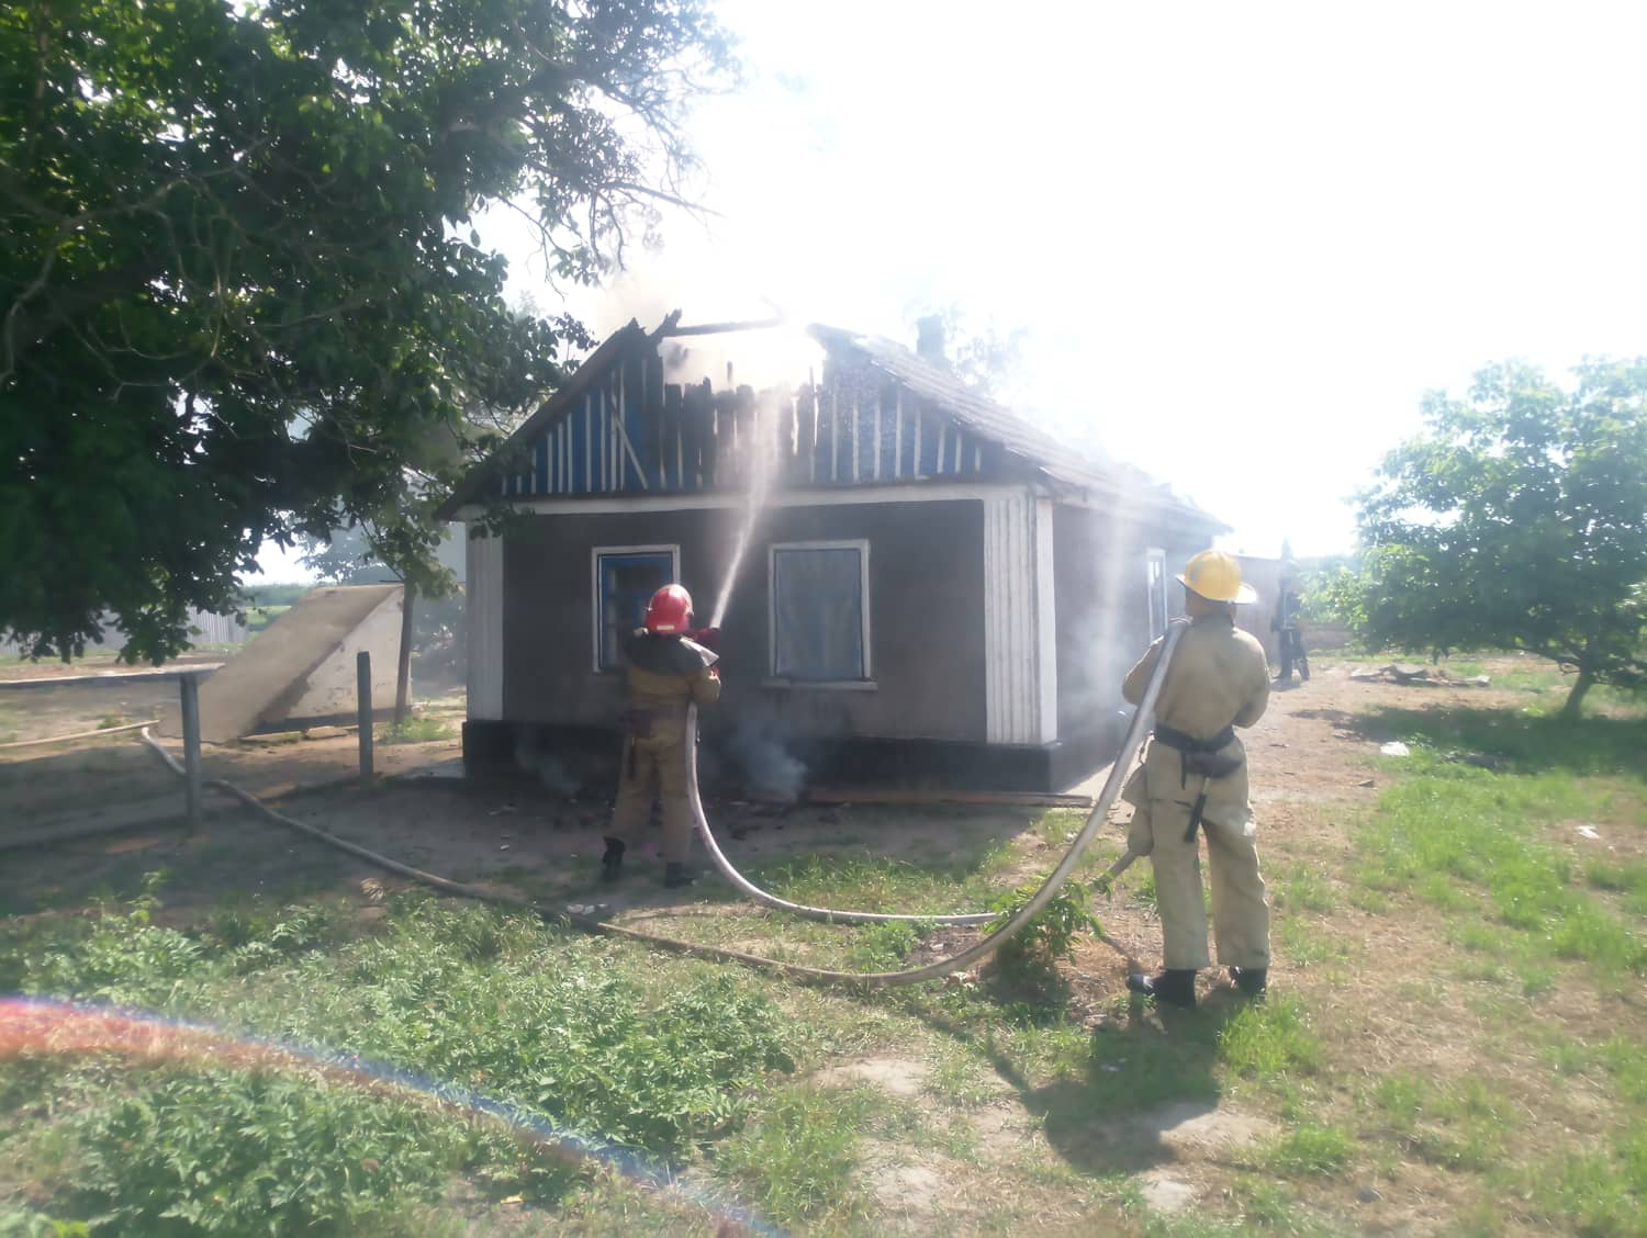
<path id="1" fill-rule="evenodd" d="M 868 683 L 870 543 L 771 548 L 772 678 Z"/>

